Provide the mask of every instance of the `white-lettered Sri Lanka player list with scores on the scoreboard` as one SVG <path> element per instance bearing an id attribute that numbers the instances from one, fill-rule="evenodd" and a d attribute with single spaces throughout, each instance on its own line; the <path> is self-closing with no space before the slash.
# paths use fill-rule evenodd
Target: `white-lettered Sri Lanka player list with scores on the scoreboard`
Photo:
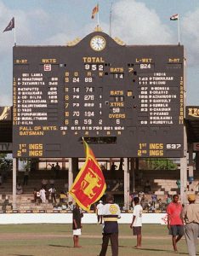
<path id="1" fill-rule="evenodd" d="M 56 109 L 58 104 L 57 85 L 58 78 L 47 81 L 43 73 L 22 73 L 20 78 L 14 78 L 14 124 L 47 121 L 48 107 Z"/>

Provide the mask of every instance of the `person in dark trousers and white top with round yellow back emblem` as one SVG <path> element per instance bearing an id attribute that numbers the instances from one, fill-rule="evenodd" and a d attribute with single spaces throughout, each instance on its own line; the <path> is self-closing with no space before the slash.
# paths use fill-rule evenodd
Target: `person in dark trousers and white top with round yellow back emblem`
<path id="1" fill-rule="evenodd" d="M 102 208 L 104 229 L 102 246 L 99 256 L 105 256 L 109 240 L 111 240 L 112 256 L 118 256 L 118 224 L 117 218 L 121 218 L 120 207 L 114 203 L 113 195 L 107 195 L 105 206 Z"/>

